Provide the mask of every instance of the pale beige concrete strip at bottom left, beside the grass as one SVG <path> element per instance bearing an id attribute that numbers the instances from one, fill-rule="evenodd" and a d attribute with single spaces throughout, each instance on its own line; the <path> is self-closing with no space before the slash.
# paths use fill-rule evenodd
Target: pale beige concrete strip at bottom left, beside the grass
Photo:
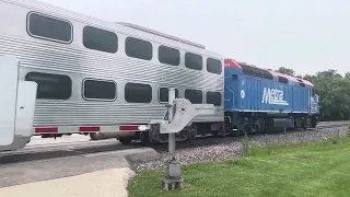
<path id="1" fill-rule="evenodd" d="M 4 187 L 1 197 L 127 197 L 129 167 Z"/>

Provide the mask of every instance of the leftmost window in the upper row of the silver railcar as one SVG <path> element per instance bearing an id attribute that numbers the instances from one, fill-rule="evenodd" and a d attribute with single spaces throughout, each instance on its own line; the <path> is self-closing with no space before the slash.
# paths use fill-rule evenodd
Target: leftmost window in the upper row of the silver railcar
<path id="1" fill-rule="evenodd" d="M 27 18 L 27 31 L 31 36 L 61 43 L 72 42 L 73 26 L 68 21 L 33 12 Z"/>

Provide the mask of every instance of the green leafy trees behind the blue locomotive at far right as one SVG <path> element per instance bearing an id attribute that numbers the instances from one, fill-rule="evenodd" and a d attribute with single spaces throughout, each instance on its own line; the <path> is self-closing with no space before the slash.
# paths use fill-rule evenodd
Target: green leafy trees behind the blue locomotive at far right
<path id="1" fill-rule="evenodd" d="M 314 76 L 295 74 L 294 70 L 280 67 L 277 72 L 311 81 L 319 95 L 322 121 L 350 119 L 350 72 L 341 76 L 336 70 L 319 71 Z"/>

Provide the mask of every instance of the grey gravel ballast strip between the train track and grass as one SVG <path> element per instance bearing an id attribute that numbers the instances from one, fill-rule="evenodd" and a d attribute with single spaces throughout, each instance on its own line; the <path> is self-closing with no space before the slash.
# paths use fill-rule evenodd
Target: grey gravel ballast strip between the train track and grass
<path id="1" fill-rule="evenodd" d="M 265 146 L 266 139 L 271 143 L 298 143 L 303 141 L 312 141 L 319 139 L 327 139 L 336 136 L 346 136 L 349 132 L 349 127 L 337 127 L 326 129 L 310 129 L 301 131 L 287 131 L 280 134 L 269 135 L 253 135 L 249 136 L 249 141 L 259 146 Z M 218 142 L 212 144 L 200 144 L 197 147 L 176 149 L 176 159 L 182 164 L 202 162 L 202 161 L 220 161 L 230 158 L 237 158 L 242 155 L 243 137 L 238 138 L 218 138 Z M 167 151 L 159 151 L 161 157 L 159 160 L 132 163 L 132 167 L 137 171 L 144 169 L 156 169 L 164 166 L 168 159 Z"/>

